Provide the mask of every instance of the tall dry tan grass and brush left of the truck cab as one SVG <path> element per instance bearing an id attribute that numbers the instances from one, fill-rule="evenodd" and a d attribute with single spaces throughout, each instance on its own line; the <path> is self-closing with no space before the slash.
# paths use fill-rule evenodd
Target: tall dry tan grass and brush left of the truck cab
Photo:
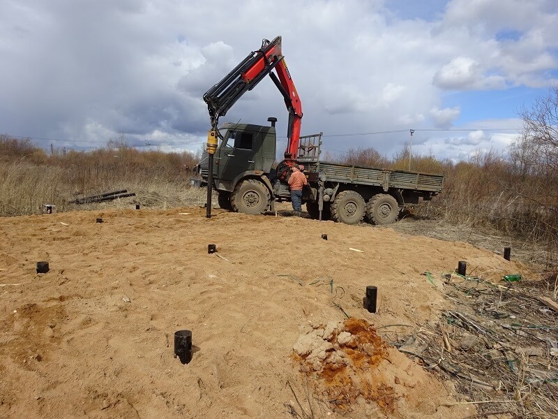
<path id="1" fill-rule="evenodd" d="M 118 146 L 47 156 L 28 140 L 0 135 L 0 216 L 40 214 L 43 204 L 56 205 L 57 212 L 73 210 L 77 206 L 69 202 L 75 198 L 121 189 L 136 196 L 110 206 L 167 208 L 192 202 L 187 191 L 195 156 Z"/>

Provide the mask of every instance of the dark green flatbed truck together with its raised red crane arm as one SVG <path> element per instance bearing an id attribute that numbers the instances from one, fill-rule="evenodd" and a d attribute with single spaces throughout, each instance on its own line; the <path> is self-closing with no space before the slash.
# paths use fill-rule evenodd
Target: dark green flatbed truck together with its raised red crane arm
<path id="1" fill-rule="evenodd" d="M 277 75 L 272 73 L 275 70 Z M 243 94 L 269 75 L 289 112 L 285 159 L 276 163 L 276 118 L 268 126 L 223 124 L 219 117 Z M 303 166 L 308 187 L 303 203 L 313 219 L 389 224 L 403 205 L 430 200 L 442 191 L 444 177 L 405 170 L 352 166 L 320 160 L 322 133 L 300 135 L 302 105 L 281 49 L 281 37 L 264 39 L 238 66 L 204 94 L 211 129 L 207 149 L 197 165 L 201 179 L 191 184 L 208 186 L 208 214 L 212 189 L 220 207 L 247 214 L 274 210 L 277 201 L 291 199 L 288 178 L 292 166 Z M 212 163 L 210 163 L 212 162 Z"/>

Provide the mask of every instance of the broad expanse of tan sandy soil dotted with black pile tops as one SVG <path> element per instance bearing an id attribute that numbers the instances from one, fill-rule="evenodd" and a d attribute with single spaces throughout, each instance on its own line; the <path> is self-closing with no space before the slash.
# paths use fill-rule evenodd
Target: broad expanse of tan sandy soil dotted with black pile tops
<path id="1" fill-rule="evenodd" d="M 474 415 L 450 382 L 386 338 L 451 307 L 425 271 L 439 277 L 465 260 L 497 280 L 520 265 L 391 228 L 204 215 L 0 219 L 0 417 Z M 36 273 L 40 260 L 46 274 Z M 376 314 L 363 308 L 369 285 Z M 183 329 L 193 332 L 186 365 L 173 357 Z"/>

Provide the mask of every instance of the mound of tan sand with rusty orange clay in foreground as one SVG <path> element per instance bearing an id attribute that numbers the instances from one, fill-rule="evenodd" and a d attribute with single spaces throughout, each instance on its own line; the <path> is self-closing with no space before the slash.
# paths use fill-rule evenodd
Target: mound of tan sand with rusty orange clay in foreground
<path id="1" fill-rule="evenodd" d="M 444 417 L 448 395 L 439 381 L 389 348 L 363 319 L 309 328 L 293 350 L 316 397 L 329 402 L 338 413 L 365 402 L 367 410 L 379 417 L 407 417 L 409 408 L 425 416 Z"/>

